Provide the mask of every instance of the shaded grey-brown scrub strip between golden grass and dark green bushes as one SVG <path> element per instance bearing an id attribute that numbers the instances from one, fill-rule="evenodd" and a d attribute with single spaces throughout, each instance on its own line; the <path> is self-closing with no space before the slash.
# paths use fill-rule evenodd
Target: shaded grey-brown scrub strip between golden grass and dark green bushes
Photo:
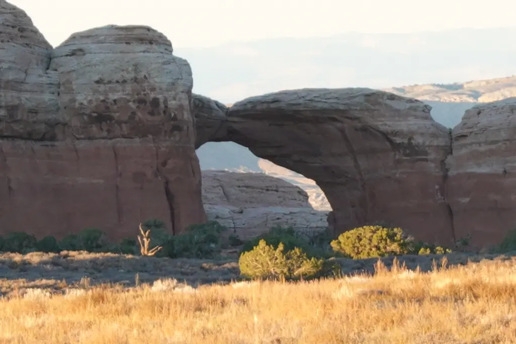
<path id="1" fill-rule="evenodd" d="M 448 266 L 466 265 L 482 260 L 512 260 L 516 252 L 506 254 L 446 254 Z M 410 270 L 420 267 L 431 271 L 443 255 L 405 255 L 396 259 Z M 390 268 L 394 257 L 382 258 Z M 342 267 L 344 276 L 357 273 L 374 273 L 378 259 L 335 259 Z M 230 256 L 214 260 L 169 259 L 112 253 L 63 251 L 60 253 L 32 252 L 28 254 L 0 253 L 0 294 L 5 295 L 21 288 L 62 289 L 70 286 L 116 284 L 134 287 L 152 284 L 158 279 L 171 278 L 193 287 L 202 284 L 226 284 L 241 280 L 238 257 Z M 87 284 L 87 285 L 84 285 Z"/>

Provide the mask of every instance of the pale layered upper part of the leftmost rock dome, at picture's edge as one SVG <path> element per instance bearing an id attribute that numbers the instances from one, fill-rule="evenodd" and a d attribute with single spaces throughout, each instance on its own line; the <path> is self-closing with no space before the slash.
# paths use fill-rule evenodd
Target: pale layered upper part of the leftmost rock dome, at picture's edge
<path id="1" fill-rule="evenodd" d="M 0 137 L 44 140 L 57 126 L 58 76 L 46 73 L 51 55 L 25 12 L 0 0 Z"/>

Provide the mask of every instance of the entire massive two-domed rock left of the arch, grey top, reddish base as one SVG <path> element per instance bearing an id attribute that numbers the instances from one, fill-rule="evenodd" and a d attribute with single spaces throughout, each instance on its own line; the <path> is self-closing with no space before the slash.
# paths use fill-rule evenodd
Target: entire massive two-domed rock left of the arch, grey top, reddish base
<path id="1" fill-rule="evenodd" d="M 165 36 L 106 26 L 53 50 L 22 10 L 0 19 L 0 234 L 205 220 L 191 70 Z"/>

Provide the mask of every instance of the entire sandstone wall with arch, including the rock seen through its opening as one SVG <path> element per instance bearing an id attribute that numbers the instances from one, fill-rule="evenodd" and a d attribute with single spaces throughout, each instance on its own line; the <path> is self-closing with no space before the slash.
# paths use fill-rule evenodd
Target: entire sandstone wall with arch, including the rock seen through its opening
<path id="1" fill-rule="evenodd" d="M 116 239 L 149 218 L 180 233 L 206 219 L 203 201 L 242 238 L 277 224 L 337 234 L 384 221 L 447 246 L 471 234 L 480 247 L 514 226 L 516 98 L 466 111 L 451 134 L 421 101 L 370 89 L 282 91 L 228 108 L 191 93 L 189 64 L 158 31 L 105 26 L 53 49 L 5 0 L 0 89 L 0 234 L 99 227 Z M 202 198 L 195 148 L 222 141 L 313 180 L 331 223 L 306 193 L 263 175 L 209 172 Z"/>

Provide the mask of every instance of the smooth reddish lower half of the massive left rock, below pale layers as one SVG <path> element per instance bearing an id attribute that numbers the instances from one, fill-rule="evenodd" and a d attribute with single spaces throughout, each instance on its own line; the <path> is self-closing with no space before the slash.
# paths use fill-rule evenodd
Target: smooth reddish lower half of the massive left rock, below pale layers
<path id="1" fill-rule="evenodd" d="M 0 148 L 1 234 L 61 238 L 95 227 L 119 239 L 134 237 L 145 219 L 179 231 L 205 220 L 192 148 L 151 139 L 1 141 Z"/>

